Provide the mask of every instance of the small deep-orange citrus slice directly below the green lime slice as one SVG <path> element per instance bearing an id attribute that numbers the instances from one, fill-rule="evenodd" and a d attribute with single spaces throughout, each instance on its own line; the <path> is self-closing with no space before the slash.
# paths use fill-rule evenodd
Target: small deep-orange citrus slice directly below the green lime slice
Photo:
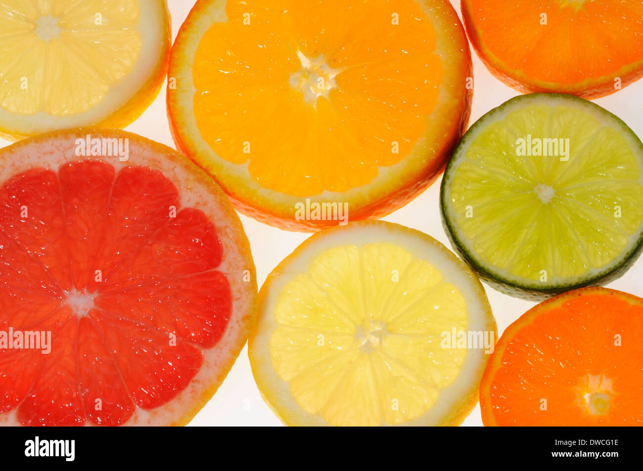
<path id="1" fill-rule="evenodd" d="M 507 327 L 485 370 L 485 425 L 640 425 L 643 299 L 566 292 Z"/>

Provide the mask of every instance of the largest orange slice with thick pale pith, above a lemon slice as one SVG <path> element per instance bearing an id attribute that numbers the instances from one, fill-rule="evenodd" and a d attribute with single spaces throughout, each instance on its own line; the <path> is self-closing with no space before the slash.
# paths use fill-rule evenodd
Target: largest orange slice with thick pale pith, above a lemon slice
<path id="1" fill-rule="evenodd" d="M 200 0 L 168 75 L 177 148 L 239 211 L 300 231 L 381 217 L 427 188 L 473 93 L 445 0 Z"/>

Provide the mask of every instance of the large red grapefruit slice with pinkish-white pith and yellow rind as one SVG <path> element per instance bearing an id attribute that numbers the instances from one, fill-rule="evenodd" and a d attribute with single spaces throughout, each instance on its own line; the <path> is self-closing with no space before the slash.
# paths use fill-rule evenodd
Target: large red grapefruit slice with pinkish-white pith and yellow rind
<path id="1" fill-rule="evenodd" d="M 87 135 L 129 160 L 78 156 Z M 100 129 L 4 148 L 0 182 L 0 423 L 189 422 L 255 311 L 224 193 L 174 150 Z"/>

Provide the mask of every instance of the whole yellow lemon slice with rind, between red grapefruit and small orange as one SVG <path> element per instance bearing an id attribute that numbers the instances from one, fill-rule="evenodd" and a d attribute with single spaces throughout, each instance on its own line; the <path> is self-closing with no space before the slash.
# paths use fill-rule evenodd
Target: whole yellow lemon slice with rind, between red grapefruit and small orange
<path id="1" fill-rule="evenodd" d="M 269 274 L 249 357 L 287 425 L 458 425 L 495 339 L 480 281 L 444 245 L 352 222 Z"/>

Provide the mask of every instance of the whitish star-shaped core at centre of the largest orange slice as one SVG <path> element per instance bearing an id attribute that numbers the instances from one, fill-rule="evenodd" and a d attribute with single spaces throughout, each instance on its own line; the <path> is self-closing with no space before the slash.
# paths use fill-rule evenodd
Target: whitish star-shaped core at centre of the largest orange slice
<path id="1" fill-rule="evenodd" d="M 297 51 L 297 57 L 302 67 L 290 76 L 289 82 L 303 94 L 304 102 L 316 107 L 320 96 L 328 100 L 329 91 L 337 86 L 335 76 L 341 69 L 331 69 L 323 55 L 309 59 Z"/>

